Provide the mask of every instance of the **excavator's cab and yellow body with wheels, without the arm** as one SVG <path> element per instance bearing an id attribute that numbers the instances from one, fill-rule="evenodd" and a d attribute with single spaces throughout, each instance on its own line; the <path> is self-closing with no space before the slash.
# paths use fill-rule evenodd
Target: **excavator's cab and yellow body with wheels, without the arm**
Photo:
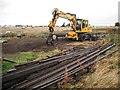
<path id="1" fill-rule="evenodd" d="M 66 39 L 75 39 L 83 41 L 90 38 L 92 27 L 86 19 L 76 19 L 76 31 L 70 31 L 66 35 Z"/>

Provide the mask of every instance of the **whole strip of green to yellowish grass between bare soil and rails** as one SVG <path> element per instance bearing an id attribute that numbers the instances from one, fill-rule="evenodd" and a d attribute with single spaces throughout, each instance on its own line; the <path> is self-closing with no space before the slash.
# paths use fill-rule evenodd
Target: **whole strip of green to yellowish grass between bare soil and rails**
<path id="1" fill-rule="evenodd" d="M 5 57 L 8 60 L 14 61 L 16 62 L 16 64 L 20 64 L 20 63 L 25 63 L 25 62 L 30 62 L 33 60 L 41 60 L 41 59 L 45 59 L 48 56 L 53 56 L 56 55 L 58 53 L 61 53 L 61 50 L 58 49 L 54 49 L 52 51 L 48 51 L 48 52 L 20 52 L 20 53 L 16 53 L 14 55 L 12 54 L 6 54 Z M 2 72 L 5 73 L 7 70 L 14 68 L 14 66 L 16 64 L 10 63 L 10 62 L 2 62 Z"/>

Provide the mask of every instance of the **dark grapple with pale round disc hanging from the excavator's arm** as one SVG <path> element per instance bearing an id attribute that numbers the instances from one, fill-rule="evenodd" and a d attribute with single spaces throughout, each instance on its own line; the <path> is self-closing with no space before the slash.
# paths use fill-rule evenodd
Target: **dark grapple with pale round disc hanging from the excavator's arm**
<path id="1" fill-rule="evenodd" d="M 58 37 L 55 34 L 50 34 L 47 38 L 46 43 L 48 45 L 57 45 Z"/>

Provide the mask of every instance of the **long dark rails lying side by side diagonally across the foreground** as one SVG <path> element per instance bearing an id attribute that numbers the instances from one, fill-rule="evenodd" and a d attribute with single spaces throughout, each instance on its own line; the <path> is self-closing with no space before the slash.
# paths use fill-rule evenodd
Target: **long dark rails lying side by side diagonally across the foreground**
<path id="1" fill-rule="evenodd" d="M 87 49 L 77 47 L 64 54 L 18 65 L 13 71 L 3 74 L 3 90 L 45 88 L 63 80 L 66 71 L 68 76 L 71 76 L 102 60 L 95 58 L 114 46 L 114 43 L 107 43 L 104 46 L 94 46 Z"/>

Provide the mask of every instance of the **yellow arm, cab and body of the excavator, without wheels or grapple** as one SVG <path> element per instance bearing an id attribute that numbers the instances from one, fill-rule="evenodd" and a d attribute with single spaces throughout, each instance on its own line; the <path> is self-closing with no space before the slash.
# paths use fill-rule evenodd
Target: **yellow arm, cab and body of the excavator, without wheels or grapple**
<path id="1" fill-rule="evenodd" d="M 73 31 L 69 31 L 66 34 L 66 39 L 79 40 L 79 34 L 92 32 L 92 27 L 89 26 L 88 20 L 86 20 L 86 19 L 76 19 L 75 14 L 64 13 L 62 11 L 59 11 L 57 8 L 55 8 L 53 10 L 52 14 L 53 14 L 53 18 L 50 21 L 50 24 L 48 25 L 51 33 L 53 33 L 53 31 L 54 31 L 55 24 L 56 24 L 57 19 L 59 17 L 68 19 L 69 21 L 72 22 Z"/>

